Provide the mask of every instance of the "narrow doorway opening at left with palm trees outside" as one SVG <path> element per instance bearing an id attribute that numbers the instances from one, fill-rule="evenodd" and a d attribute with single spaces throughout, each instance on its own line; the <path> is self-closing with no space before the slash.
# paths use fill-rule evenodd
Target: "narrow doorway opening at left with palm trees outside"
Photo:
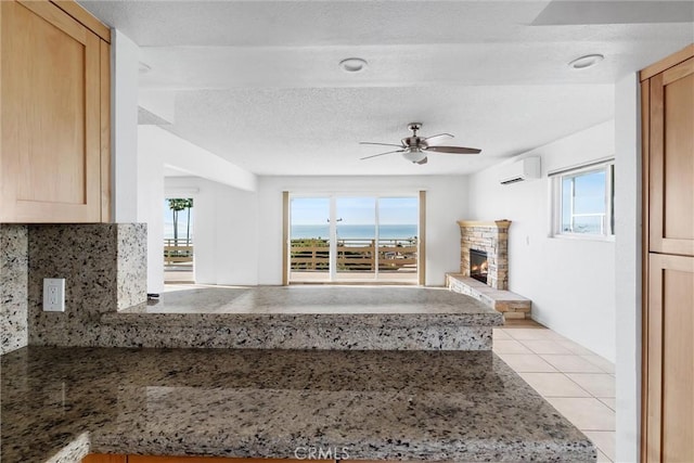
<path id="1" fill-rule="evenodd" d="M 193 198 L 164 200 L 164 282 L 195 283 Z"/>

